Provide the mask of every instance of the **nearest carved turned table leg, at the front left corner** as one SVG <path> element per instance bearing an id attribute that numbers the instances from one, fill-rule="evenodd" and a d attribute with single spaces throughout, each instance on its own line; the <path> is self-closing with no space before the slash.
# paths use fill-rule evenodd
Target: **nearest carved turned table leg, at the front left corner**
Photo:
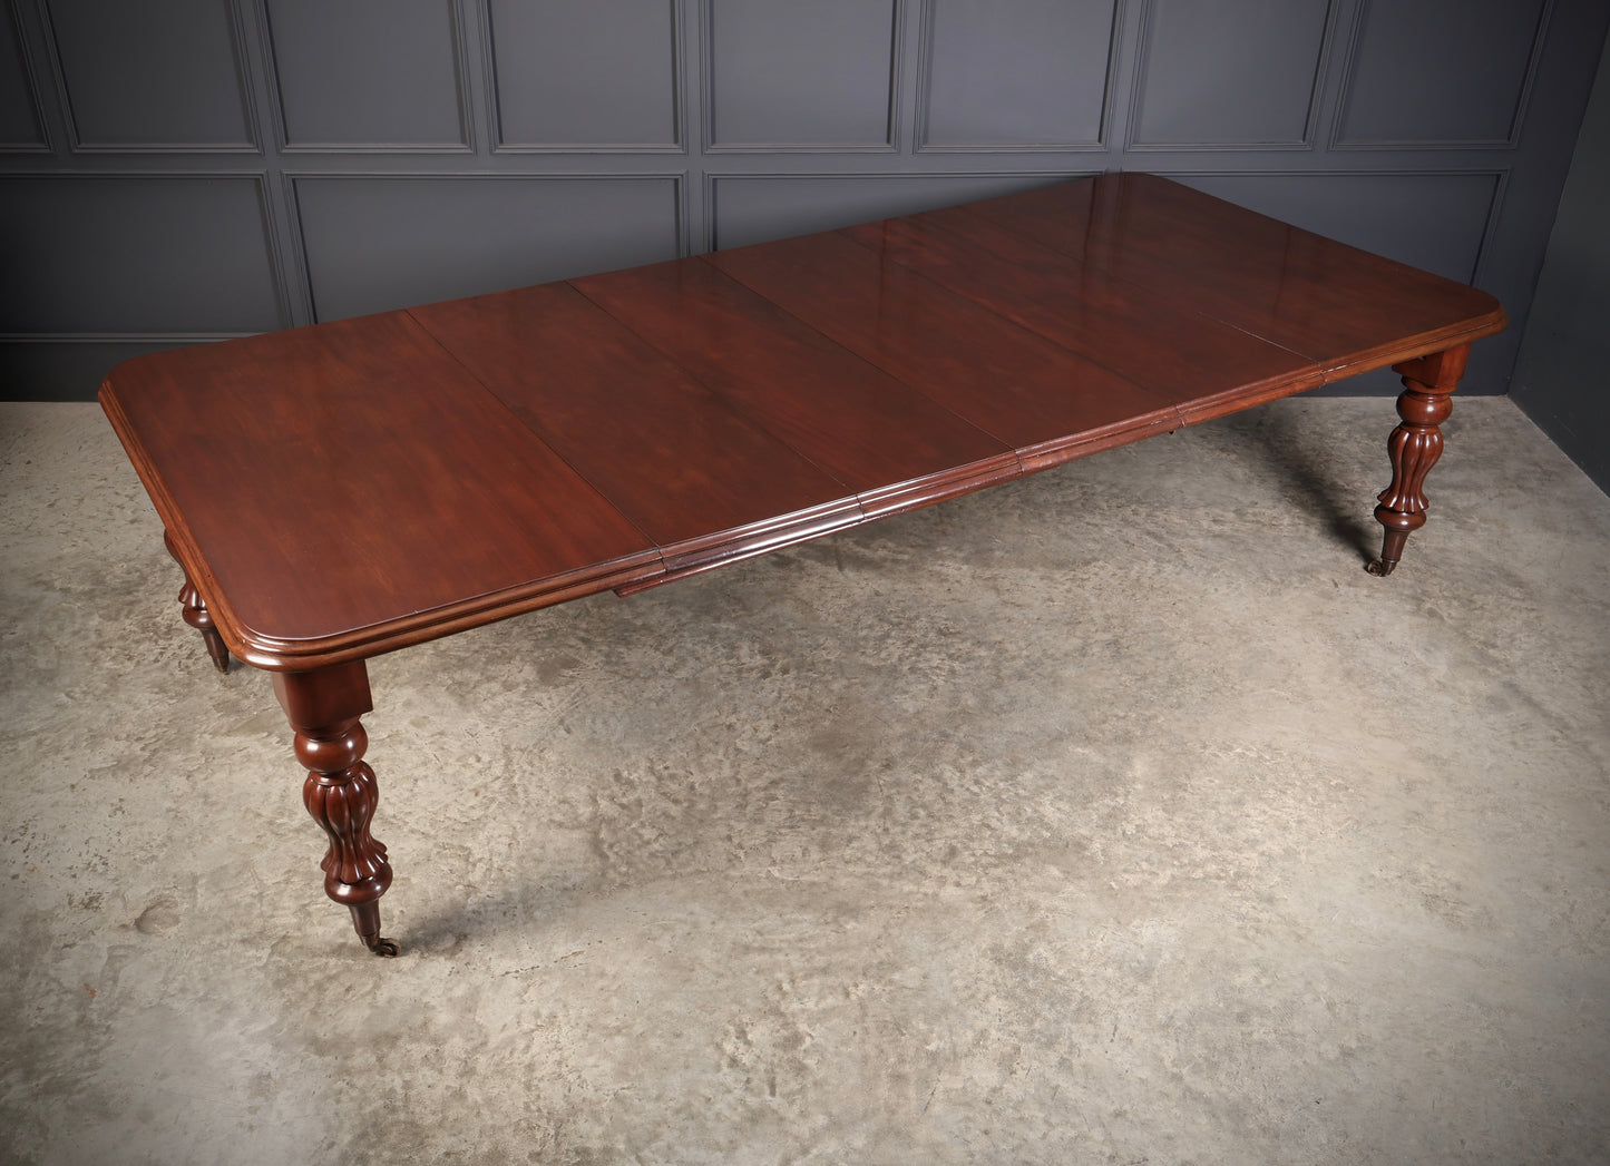
<path id="1" fill-rule="evenodd" d="M 303 803 L 330 836 L 324 856 L 324 893 L 351 907 L 353 926 L 375 955 L 396 955 L 380 938 L 380 896 L 391 886 L 386 848 L 369 833 L 378 791 L 364 764 L 369 735 L 359 717 L 374 709 L 364 661 L 316 672 L 275 672 L 280 698 L 296 730 L 296 759 L 308 767 Z"/>

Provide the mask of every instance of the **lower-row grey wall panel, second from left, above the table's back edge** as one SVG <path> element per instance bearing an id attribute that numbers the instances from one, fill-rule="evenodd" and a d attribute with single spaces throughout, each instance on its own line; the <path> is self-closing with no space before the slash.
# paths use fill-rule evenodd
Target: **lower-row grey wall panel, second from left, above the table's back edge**
<path id="1" fill-rule="evenodd" d="M 673 177 L 295 179 L 317 318 L 673 259 Z"/>

